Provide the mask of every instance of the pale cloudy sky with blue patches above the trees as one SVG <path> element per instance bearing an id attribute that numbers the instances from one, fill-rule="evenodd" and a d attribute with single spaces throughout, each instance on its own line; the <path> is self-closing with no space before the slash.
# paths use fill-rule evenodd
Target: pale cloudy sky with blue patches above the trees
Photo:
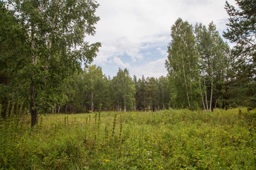
<path id="1" fill-rule="evenodd" d="M 96 35 L 90 42 L 101 42 L 92 64 L 113 77 L 119 68 L 131 76 L 166 76 L 164 67 L 171 26 L 177 18 L 191 24 L 215 23 L 220 34 L 226 29 L 225 0 L 97 0 Z M 235 0 L 228 0 L 235 4 Z"/>

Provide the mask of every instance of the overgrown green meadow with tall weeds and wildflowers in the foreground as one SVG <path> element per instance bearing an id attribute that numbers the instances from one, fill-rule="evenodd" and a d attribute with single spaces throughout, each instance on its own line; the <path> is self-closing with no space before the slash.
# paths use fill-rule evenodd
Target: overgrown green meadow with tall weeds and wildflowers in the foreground
<path id="1" fill-rule="evenodd" d="M 0 123 L 0 169 L 255 169 L 256 110 L 29 115 Z"/>

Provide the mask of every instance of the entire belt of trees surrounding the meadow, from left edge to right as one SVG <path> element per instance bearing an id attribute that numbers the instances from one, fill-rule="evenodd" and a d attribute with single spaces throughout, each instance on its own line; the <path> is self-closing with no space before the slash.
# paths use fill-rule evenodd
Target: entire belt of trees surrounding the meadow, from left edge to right
<path id="1" fill-rule="evenodd" d="M 236 3 L 238 9 L 226 2 L 230 18 L 223 33 L 234 47 L 214 23 L 193 26 L 178 18 L 167 77 L 137 79 L 127 69 L 110 78 L 90 65 L 101 45 L 85 41 L 100 20 L 96 1 L 1 1 L 1 115 L 13 101 L 29 108 L 31 126 L 46 112 L 255 108 L 256 3 Z"/>

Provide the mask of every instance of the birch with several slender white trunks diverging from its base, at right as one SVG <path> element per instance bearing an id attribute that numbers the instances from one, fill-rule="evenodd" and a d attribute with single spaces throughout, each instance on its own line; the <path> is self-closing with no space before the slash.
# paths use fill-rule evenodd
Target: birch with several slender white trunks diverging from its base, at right
<path id="1" fill-rule="evenodd" d="M 227 57 L 225 52 L 228 45 L 218 34 L 214 23 L 210 23 L 208 28 L 201 23 L 195 27 L 196 50 L 198 53 L 198 64 L 200 69 L 199 89 L 203 108 L 206 111 L 213 109 L 217 103 L 223 103 L 223 90 L 225 81 L 225 69 Z"/>

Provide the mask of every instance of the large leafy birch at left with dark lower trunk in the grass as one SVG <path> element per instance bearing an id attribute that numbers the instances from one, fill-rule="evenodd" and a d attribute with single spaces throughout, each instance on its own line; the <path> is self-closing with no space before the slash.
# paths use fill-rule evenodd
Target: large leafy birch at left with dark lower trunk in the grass
<path id="1" fill-rule="evenodd" d="M 30 62 L 23 69 L 29 80 L 31 126 L 40 108 L 60 100 L 63 79 L 92 62 L 100 43 L 90 45 L 85 35 L 95 34 L 98 4 L 93 0 L 9 0 L 6 8 L 26 29 Z"/>

